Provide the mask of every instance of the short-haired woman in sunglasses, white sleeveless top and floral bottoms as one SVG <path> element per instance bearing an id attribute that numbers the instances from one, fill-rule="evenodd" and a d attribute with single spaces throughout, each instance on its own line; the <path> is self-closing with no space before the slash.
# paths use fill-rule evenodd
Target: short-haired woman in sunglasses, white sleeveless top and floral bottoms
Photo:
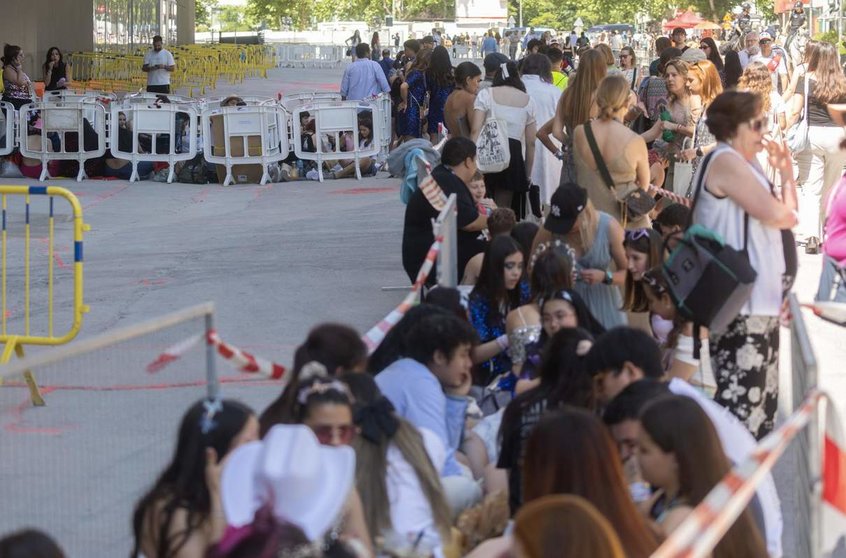
<path id="1" fill-rule="evenodd" d="M 795 248 L 782 242 L 782 231 L 798 220 L 791 153 L 786 144 L 764 138 L 768 124 L 758 95 L 719 95 L 708 107 L 708 129 L 719 143 L 694 177 L 693 223 L 736 250 L 746 247 L 757 272 L 740 314 L 725 331 L 712 332 L 710 352 L 717 374 L 715 400 L 758 439 L 772 430 L 778 410 L 779 316 L 783 285 L 795 273 L 789 265 L 795 262 L 789 250 Z M 781 176 L 780 197 L 758 163 L 757 154 L 765 148 Z"/>

